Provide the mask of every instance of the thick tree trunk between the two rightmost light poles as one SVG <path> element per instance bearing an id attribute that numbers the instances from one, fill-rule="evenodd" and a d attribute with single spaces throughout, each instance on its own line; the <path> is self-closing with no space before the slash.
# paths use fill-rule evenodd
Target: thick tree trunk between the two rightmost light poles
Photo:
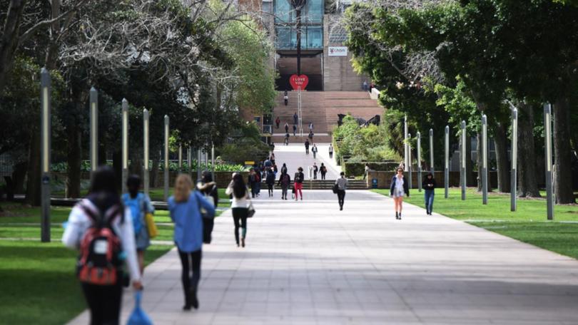
<path id="1" fill-rule="evenodd" d="M 519 197 L 540 197 L 534 149 L 534 108 L 518 105 L 518 192 Z"/>

